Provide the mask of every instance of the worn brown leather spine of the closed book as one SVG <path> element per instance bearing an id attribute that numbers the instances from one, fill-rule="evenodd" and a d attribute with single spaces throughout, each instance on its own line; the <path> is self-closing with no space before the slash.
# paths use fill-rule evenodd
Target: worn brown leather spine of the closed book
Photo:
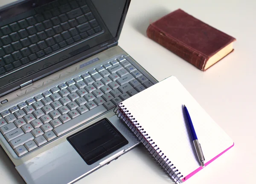
<path id="1" fill-rule="evenodd" d="M 154 40 L 169 51 L 172 51 L 174 54 L 191 63 L 196 68 L 201 71 L 205 71 L 204 66 L 209 59 L 207 56 L 195 51 L 175 38 L 166 35 L 152 24 L 148 26 L 147 35 L 151 40 Z"/>

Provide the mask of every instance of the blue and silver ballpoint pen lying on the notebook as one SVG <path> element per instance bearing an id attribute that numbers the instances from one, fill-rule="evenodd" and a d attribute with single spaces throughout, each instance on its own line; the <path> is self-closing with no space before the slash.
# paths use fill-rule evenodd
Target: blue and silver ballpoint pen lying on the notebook
<path id="1" fill-rule="evenodd" d="M 184 105 L 184 111 L 185 111 L 185 115 L 186 115 L 186 121 L 189 125 L 189 131 L 190 131 L 190 134 L 191 134 L 194 146 L 195 146 L 195 150 L 196 150 L 196 153 L 197 153 L 197 156 L 198 156 L 198 160 L 199 160 L 201 166 L 204 167 L 205 159 L 204 159 L 204 154 L 203 154 L 203 151 L 202 151 L 202 148 L 201 148 L 201 144 L 198 142 L 198 138 L 197 138 L 196 133 L 195 133 L 195 128 L 194 128 L 192 120 L 189 116 L 189 111 L 188 111 L 188 109 L 186 108 L 185 105 Z"/>

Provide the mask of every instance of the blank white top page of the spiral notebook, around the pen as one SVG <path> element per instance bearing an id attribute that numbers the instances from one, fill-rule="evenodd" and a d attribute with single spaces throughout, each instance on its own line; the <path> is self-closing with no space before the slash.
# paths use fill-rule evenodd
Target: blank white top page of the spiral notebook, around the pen
<path id="1" fill-rule="evenodd" d="M 187 176 L 200 164 L 183 113 L 183 104 L 188 108 L 205 163 L 233 145 L 232 139 L 174 76 L 123 102 L 179 172 Z"/>

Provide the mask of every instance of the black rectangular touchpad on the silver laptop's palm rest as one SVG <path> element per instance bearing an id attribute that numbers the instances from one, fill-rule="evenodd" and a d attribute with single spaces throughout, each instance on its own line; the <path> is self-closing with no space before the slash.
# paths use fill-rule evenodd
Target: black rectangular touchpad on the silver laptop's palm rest
<path id="1" fill-rule="evenodd" d="M 128 144 L 106 118 L 69 136 L 67 140 L 88 165 Z"/>

